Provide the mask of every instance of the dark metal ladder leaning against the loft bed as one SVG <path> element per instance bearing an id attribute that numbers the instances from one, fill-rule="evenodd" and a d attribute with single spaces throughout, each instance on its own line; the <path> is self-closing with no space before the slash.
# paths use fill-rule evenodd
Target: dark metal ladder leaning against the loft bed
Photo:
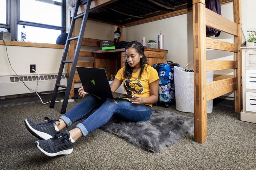
<path id="1" fill-rule="evenodd" d="M 70 93 L 72 82 L 73 82 L 74 75 L 75 75 L 75 67 L 76 67 L 76 64 L 77 64 L 78 55 L 79 55 L 80 48 L 81 48 L 81 43 L 82 43 L 82 40 L 83 40 L 84 30 L 85 30 L 85 26 L 86 26 L 88 14 L 89 14 L 91 2 L 92 2 L 92 0 L 83 0 L 81 2 L 80 2 L 80 0 L 77 0 L 76 5 L 75 5 L 75 10 L 74 10 L 73 17 L 72 17 L 72 20 L 71 20 L 70 29 L 69 29 L 69 33 L 68 33 L 68 38 L 66 40 L 66 44 L 65 44 L 64 51 L 63 51 L 63 55 L 62 55 L 62 59 L 61 59 L 60 67 L 59 67 L 59 72 L 58 72 L 58 76 L 57 76 L 57 80 L 56 80 L 56 83 L 55 83 L 53 96 L 52 96 L 52 100 L 51 100 L 51 104 L 50 104 L 50 108 L 54 108 L 54 104 L 55 104 L 55 100 L 56 100 L 56 97 L 57 97 L 57 92 L 58 92 L 59 87 L 65 88 L 66 92 L 65 92 L 65 95 L 64 95 L 64 100 L 63 100 L 62 108 L 61 108 L 61 111 L 60 111 L 61 114 L 66 113 L 68 99 L 69 99 L 69 93 Z M 86 3 L 85 12 L 80 14 L 80 15 L 77 15 L 77 11 L 78 11 L 79 6 L 83 5 L 85 3 Z M 81 28 L 80 28 L 80 32 L 79 32 L 79 36 L 71 38 L 72 33 L 73 33 L 73 29 L 74 29 L 74 25 L 75 25 L 75 20 L 78 19 L 78 18 L 83 18 Z M 74 59 L 73 60 L 66 60 L 70 41 L 73 41 L 73 40 L 77 40 Z M 61 80 L 61 76 L 62 76 L 62 73 L 63 73 L 65 63 L 72 63 L 67 86 L 60 84 L 60 80 Z"/>

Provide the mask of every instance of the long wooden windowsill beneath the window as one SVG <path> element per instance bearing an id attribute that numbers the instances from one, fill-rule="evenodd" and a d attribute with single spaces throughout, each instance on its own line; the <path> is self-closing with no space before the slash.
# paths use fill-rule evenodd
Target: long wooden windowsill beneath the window
<path id="1" fill-rule="evenodd" d="M 64 47 L 65 47 L 65 45 L 36 43 L 36 42 L 5 41 L 5 43 L 6 43 L 6 45 L 24 46 L 24 47 L 61 48 L 61 49 L 64 49 Z M 3 40 L 0 40 L 0 45 L 4 45 Z"/>

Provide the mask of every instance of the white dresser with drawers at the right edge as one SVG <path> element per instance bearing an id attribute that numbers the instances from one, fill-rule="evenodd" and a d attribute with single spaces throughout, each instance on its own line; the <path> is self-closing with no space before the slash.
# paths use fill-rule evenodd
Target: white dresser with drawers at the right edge
<path id="1" fill-rule="evenodd" d="M 241 120 L 256 123 L 256 46 L 241 47 L 243 71 L 243 110 Z"/>

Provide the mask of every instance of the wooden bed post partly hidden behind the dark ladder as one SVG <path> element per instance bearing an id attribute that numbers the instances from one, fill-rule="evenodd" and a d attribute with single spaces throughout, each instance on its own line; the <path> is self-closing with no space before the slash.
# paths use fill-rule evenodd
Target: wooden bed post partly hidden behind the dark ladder
<path id="1" fill-rule="evenodd" d="M 70 18 L 69 19 L 70 19 L 70 23 L 71 23 L 71 20 L 72 20 L 71 12 L 70 12 Z M 74 29 L 73 29 L 73 32 L 72 32 L 72 37 L 75 37 L 75 25 L 74 25 Z M 75 42 L 70 41 L 68 60 L 73 60 L 74 55 L 75 55 Z M 68 77 L 69 77 L 69 74 L 70 74 L 70 71 L 71 71 L 71 66 L 72 66 L 72 63 L 69 63 L 68 64 Z M 73 79 L 72 86 L 71 86 L 71 91 L 69 93 L 69 99 L 71 99 L 75 95 L 74 92 L 75 92 L 75 82 L 74 82 L 74 79 Z"/>

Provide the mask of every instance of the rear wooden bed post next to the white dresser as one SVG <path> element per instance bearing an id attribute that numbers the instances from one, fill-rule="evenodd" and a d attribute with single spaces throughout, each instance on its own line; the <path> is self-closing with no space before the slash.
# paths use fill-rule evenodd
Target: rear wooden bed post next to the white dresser
<path id="1" fill-rule="evenodd" d="M 242 17 L 241 17 L 241 0 L 234 0 L 234 22 L 238 24 L 238 36 L 234 37 L 234 44 L 238 44 L 238 52 L 234 53 L 234 60 L 238 61 L 238 68 L 234 69 L 234 76 L 238 76 L 238 89 L 235 91 L 235 112 L 240 113 L 242 110 L 242 53 L 240 45 L 242 43 Z"/>

